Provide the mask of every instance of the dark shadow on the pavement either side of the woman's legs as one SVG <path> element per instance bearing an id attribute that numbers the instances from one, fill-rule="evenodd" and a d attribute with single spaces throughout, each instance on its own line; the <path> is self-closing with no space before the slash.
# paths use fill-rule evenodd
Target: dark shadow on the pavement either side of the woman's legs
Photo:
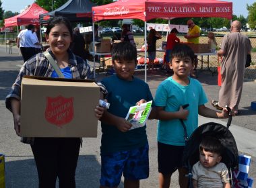
<path id="1" fill-rule="evenodd" d="M 5 156 L 6 159 L 20 156 Z M 30 157 L 30 156 L 24 156 Z M 6 187 L 38 187 L 34 158 L 5 162 Z M 80 155 L 76 169 L 76 187 L 99 187 L 100 164 L 94 155 Z M 58 183 L 57 183 L 58 185 Z M 58 186 L 57 186 L 58 187 Z M 119 185 L 123 187 L 123 182 Z"/>

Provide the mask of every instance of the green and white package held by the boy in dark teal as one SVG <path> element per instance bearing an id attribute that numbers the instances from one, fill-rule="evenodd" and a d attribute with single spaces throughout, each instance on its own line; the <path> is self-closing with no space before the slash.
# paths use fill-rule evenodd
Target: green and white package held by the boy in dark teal
<path id="1" fill-rule="evenodd" d="M 141 105 L 130 107 L 125 118 L 133 125 L 130 130 L 145 126 L 146 121 L 148 120 L 148 115 L 150 115 L 151 105 L 152 101 L 149 101 L 147 103 L 142 103 Z"/>

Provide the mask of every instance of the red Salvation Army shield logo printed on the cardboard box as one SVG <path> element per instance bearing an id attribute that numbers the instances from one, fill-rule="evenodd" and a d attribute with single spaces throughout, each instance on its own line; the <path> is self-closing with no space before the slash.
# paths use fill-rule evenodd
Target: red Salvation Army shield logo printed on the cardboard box
<path id="1" fill-rule="evenodd" d="M 61 127 L 73 120 L 73 97 L 46 97 L 45 119 L 50 124 Z"/>

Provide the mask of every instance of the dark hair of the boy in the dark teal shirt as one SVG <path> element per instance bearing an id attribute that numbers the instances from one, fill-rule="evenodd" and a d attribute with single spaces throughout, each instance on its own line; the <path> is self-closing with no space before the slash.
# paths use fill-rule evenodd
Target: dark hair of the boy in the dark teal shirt
<path id="1" fill-rule="evenodd" d="M 137 62 L 137 49 L 131 42 L 119 42 L 113 45 L 111 56 L 115 60 L 135 60 Z"/>

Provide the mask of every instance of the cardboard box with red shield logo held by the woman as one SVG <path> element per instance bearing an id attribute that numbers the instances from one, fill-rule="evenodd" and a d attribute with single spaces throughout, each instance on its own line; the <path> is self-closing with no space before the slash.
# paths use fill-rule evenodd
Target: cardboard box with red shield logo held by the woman
<path id="1" fill-rule="evenodd" d="M 21 136 L 96 137 L 100 88 L 93 81 L 23 77 Z"/>

